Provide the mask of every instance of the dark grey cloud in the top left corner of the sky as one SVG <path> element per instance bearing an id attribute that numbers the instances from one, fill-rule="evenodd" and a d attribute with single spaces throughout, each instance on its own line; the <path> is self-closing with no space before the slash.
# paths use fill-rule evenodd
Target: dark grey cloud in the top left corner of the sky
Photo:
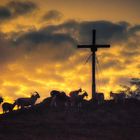
<path id="1" fill-rule="evenodd" d="M 37 9 L 36 4 L 30 1 L 10 1 L 5 6 L 0 7 L 0 21 L 23 16 L 35 9 Z"/>

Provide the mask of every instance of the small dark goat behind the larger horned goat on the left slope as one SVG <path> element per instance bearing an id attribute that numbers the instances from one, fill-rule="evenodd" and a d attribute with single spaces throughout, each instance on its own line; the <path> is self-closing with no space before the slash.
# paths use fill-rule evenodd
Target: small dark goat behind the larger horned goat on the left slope
<path id="1" fill-rule="evenodd" d="M 7 103 L 7 102 L 3 103 L 2 104 L 3 113 L 12 112 L 14 106 L 15 106 L 15 104 Z"/>

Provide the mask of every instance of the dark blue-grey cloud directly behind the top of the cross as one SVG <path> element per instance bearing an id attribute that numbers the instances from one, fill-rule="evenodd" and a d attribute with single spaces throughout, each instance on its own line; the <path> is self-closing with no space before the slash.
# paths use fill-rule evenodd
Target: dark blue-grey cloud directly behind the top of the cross
<path id="1" fill-rule="evenodd" d="M 97 43 L 118 43 L 127 39 L 127 24 L 112 23 L 108 21 L 83 22 L 80 34 L 85 35 L 88 42 L 91 30 L 97 30 Z M 83 40 L 83 36 L 81 39 Z M 91 40 L 90 40 L 91 41 Z"/>

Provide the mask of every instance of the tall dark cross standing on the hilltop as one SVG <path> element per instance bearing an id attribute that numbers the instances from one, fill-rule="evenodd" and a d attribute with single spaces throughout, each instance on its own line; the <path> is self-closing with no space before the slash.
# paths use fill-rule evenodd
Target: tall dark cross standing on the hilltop
<path id="1" fill-rule="evenodd" d="M 93 39 L 92 45 L 78 45 L 78 48 L 90 48 L 92 52 L 92 99 L 97 100 L 96 96 L 96 73 L 95 73 L 95 65 L 96 65 L 96 52 L 98 48 L 110 48 L 110 45 L 97 45 L 96 44 L 96 30 L 93 30 Z"/>

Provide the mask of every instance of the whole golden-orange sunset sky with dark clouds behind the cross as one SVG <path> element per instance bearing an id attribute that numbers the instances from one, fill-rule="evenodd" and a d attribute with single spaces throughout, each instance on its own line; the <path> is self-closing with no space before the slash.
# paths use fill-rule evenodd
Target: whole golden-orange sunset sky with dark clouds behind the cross
<path id="1" fill-rule="evenodd" d="M 53 89 L 80 87 L 91 97 L 91 54 L 77 49 L 97 43 L 97 90 L 109 91 L 140 77 L 139 0 L 0 0 L 0 95 L 14 102 Z"/>

